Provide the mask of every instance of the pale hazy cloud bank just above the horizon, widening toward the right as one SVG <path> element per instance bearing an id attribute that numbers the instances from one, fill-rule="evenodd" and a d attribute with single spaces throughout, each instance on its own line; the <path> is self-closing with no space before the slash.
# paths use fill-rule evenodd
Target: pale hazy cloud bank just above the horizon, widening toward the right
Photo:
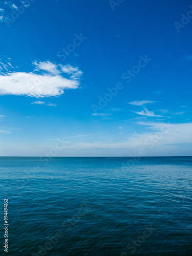
<path id="1" fill-rule="evenodd" d="M 139 148 L 142 147 L 145 148 L 146 155 L 170 155 L 170 150 L 174 149 L 177 146 L 174 146 L 174 144 L 192 143 L 192 138 L 190 136 L 192 123 L 171 124 L 162 122 L 151 122 L 140 124 L 150 126 L 151 131 L 144 133 L 133 133 L 122 142 L 109 143 L 108 141 L 95 141 L 71 143 L 69 148 L 79 148 L 80 150 L 82 150 L 83 148 L 124 148 L 126 149 L 126 152 L 138 153 Z M 163 131 L 163 133 L 161 131 Z M 160 136 L 160 133 L 162 133 L 162 136 Z M 154 137 L 156 134 L 157 138 Z M 151 144 L 147 144 L 146 141 L 155 141 L 154 147 L 151 149 Z M 178 152 L 180 152 L 180 149 Z"/>

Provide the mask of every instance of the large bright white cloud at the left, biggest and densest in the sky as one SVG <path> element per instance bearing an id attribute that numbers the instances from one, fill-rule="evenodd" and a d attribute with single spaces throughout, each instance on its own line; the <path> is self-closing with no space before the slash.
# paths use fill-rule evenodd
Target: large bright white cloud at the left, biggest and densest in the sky
<path id="1" fill-rule="evenodd" d="M 65 89 L 76 89 L 82 72 L 70 65 L 56 66 L 48 62 L 34 62 L 33 72 L 0 74 L 0 95 L 26 95 L 36 98 L 59 96 Z M 36 73 L 37 69 L 41 74 Z M 63 73 L 64 72 L 64 73 Z M 70 75 L 65 77 L 65 73 Z"/>

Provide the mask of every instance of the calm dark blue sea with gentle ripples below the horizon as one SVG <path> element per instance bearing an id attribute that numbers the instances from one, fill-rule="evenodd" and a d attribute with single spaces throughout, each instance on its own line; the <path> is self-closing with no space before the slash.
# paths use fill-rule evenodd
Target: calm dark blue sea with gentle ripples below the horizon
<path id="1" fill-rule="evenodd" d="M 7 255 L 192 255 L 192 157 L 129 160 L 1 157 Z"/>

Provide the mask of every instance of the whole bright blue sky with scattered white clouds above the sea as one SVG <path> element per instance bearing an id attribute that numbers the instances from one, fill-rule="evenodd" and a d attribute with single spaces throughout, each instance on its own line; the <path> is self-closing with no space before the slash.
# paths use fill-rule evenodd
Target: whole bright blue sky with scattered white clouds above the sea
<path id="1" fill-rule="evenodd" d="M 0 155 L 190 156 L 190 6 L 0 1 Z"/>

